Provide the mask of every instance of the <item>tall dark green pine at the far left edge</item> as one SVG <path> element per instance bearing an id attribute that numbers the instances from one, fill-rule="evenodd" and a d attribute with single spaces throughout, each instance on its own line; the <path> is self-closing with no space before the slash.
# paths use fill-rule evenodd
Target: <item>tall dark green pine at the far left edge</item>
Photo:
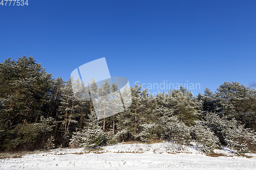
<path id="1" fill-rule="evenodd" d="M 42 133 L 33 127 L 46 115 L 51 78 L 33 57 L 0 64 L 1 149 L 36 147 Z"/>

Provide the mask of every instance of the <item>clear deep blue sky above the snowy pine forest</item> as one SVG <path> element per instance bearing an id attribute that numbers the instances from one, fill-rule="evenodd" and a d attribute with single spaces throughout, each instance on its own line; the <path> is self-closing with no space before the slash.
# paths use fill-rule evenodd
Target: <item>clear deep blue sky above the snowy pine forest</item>
<path id="1" fill-rule="evenodd" d="M 0 62 L 32 56 L 67 81 L 78 66 L 105 57 L 111 76 L 132 86 L 200 83 L 189 89 L 194 94 L 256 81 L 256 1 L 28 3 L 0 6 Z"/>

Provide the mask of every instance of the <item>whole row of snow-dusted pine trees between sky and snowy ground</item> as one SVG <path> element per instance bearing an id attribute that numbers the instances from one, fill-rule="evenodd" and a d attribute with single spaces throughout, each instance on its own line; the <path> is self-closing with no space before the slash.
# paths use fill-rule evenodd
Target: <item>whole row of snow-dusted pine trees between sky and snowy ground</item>
<path id="1" fill-rule="evenodd" d="M 113 105 L 129 91 L 130 107 L 124 107 L 127 95 Z M 33 57 L 0 63 L 2 151 L 160 139 L 180 147 L 194 140 L 203 152 L 220 145 L 247 152 L 255 151 L 255 130 L 256 92 L 239 82 L 224 82 L 215 93 L 206 88 L 197 96 L 183 86 L 153 96 L 138 84 L 120 92 L 108 81 L 53 79 Z"/>

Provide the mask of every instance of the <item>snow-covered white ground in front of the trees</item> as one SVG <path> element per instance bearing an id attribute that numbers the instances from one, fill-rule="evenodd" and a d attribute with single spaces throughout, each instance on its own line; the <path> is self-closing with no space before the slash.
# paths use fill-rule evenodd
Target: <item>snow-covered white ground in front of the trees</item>
<path id="1" fill-rule="evenodd" d="M 0 169 L 256 169 L 256 154 L 228 148 L 206 155 L 195 146 L 178 152 L 168 143 L 116 144 L 94 150 L 55 149 L 25 155 L 0 154 Z"/>

